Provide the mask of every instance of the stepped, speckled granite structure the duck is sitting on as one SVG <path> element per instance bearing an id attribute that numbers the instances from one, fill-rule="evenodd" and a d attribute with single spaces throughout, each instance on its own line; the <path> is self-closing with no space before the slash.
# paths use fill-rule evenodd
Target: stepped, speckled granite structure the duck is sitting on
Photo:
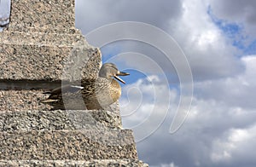
<path id="1" fill-rule="evenodd" d="M 99 49 L 74 27 L 74 0 L 12 0 L 0 32 L 0 166 L 147 166 L 118 102 L 101 111 L 44 111 L 45 90 L 96 78 Z"/>

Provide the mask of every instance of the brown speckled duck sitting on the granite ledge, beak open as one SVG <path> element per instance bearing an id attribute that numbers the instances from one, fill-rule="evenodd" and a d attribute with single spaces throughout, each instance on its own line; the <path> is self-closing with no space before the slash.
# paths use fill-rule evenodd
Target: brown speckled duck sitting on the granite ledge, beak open
<path id="1" fill-rule="evenodd" d="M 83 78 L 79 82 L 45 92 L 49 98 L 41 102 L 49 103 L 53 109 L 103 109 L 119 100 L 121 86 L 117 80 L 121 83 L 125 81 L 118 76 L 126 75 L 129 73 L 119 72 L 113 63 L 105 63 L 98 78 Z"/>

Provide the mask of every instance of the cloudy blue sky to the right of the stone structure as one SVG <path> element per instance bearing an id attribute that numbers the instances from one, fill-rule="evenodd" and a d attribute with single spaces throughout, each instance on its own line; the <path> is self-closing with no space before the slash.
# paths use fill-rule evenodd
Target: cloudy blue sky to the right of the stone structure
<path id="1" fill-rule="evenodd" d="M 254 0 L 76 0 L 76 27 L 92 45 L 95 34 L 107 40 L 103 62 L 131 73 L 123 78 L 120 112 L 149 166 L 256 166 L 255 9 Z M 143 22 L 174 42 L 146 29 L 133 32 L 143 40 L 129 40 L 136 37 L 126 27 L 137 24 L 115 25 L 120 21 Z M 109 24 L 124 40 L 98 33 Z M 193 95 L 186 92 L 189 85 Z M 170 133 L 179 108 L 188 115 Z"/>

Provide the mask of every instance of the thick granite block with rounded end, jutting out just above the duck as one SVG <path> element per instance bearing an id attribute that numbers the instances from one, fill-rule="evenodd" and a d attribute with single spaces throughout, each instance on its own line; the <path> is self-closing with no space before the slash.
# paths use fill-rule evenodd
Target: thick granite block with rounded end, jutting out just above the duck
<path id="1" fill-rule="evenodd" d="M 0 42 L 0 80 L 78 80 L 96 77 L 99 49 L 78 46 L 4 44 Z"/>

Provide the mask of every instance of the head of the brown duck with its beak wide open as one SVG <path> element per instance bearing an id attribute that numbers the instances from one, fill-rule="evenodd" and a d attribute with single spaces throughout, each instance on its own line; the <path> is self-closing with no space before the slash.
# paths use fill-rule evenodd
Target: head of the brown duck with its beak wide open
<path id="1" fill-rule="evenodd" d="M 118 76 L 126 76 L 130 75 L 127 72 L 119 72 L 118 68 L 113 63 L 105 63 L 102 65 L 102 68 L 99 72 L 99 77 L 101 78 L 116 78 L 121 83 L 125 83 L 125 81 Z"/>

